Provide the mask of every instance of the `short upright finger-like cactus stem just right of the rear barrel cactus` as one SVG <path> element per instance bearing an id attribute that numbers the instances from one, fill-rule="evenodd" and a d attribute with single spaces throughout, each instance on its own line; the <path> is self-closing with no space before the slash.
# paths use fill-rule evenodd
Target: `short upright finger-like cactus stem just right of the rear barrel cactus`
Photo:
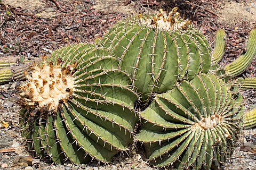
<path id="1" fill-rule="evenodd" d="M 212 52 L 212 61 L 219 63 L 224 54 L 226 33 L 225 30 L 219 29 L 215 35 L 214 49 Z"/>

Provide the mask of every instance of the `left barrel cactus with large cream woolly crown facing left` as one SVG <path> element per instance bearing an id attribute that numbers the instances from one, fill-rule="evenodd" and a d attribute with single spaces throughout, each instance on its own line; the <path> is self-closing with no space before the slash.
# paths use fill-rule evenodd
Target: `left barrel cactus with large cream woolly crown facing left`
<path id="1" fill-rule="evenodd" d="M 127 74 L 117 69 L 117 59 L 89 46 L 57 50 L 34 65 L 20 87 L 22 135 L 39 156 L 48 155 L 53 162 L 110 162 L 133 142 L 138 95 Z"/>

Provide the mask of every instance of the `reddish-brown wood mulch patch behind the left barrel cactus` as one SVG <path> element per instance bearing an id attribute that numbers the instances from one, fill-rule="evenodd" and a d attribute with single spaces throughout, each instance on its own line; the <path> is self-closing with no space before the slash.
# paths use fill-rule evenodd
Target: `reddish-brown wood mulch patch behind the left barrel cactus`
<path id="1" fill-rule="evenodd" d="M 91 42 L 123 16 L 95 11 L 89 0 L 44 3 L 44 8 L 33 12 L 0 4 L 1 55 L 39 57 L 67 44 Z M 58 14 L 51 19 L 36 15 L 45 8 L 53 8 Z"/>

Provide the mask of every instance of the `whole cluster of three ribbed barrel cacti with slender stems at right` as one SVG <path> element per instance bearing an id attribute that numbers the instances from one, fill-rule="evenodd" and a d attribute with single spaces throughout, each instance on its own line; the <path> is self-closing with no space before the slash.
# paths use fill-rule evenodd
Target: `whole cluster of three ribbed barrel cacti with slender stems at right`
<path id="1" fill-rule="evenodd" d="M 225 31 L 211 52 L 177 10 L 139 14 L 113 25 L 97 44 L 69 45 L 34 64 L 18 101 L 29 147 L 56 163 L 107 163 L 135 140 L 153 166 L 220 168 L 243 120 L 236 87 L 243 81 L 227 80 L 255 55 L 256 29 L 242 56 L 247 61 L 221 70 Z"/>

